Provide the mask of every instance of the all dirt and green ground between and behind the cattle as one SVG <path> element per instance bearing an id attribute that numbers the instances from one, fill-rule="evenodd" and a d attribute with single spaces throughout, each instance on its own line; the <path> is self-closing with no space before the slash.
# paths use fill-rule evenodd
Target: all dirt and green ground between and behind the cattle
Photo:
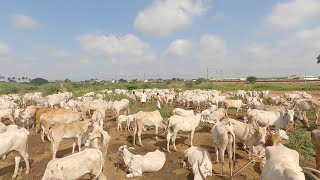
<path id="1" fill-rule="evenodd" d="M 83 86 L 82 86 L 83 85 Z M 106 88 L 121 88 L 125 86 L 129 86 L 130 84 L 81 84 L 81 83 L 65 83 L 65 87 L 73 92 L 75 95 L 82 95 L 83 93 L 89 92 L 89 91 L 99 91 Z M 140 86 L 146 86 L 146 88 L 152 88 L 153 84 L 145 84 L 145 83 L 139 83 L 139 84 L 132 84 L 132 86 L 137 86 L 137 88 L 140 88 Z M 161 84 L 157 84 L 157 86 L 160 86 Z M 177 86 L 173 86 L 177 85 Z M 237 90 L 237 89 L 251 89 L 255 87 L 262 86 L 263 84 L 257 83 L 257 84 L 244 84 L 244 83 L 201 83 L 198 85 L 194 85 L 192 88 L 198 88 L 198 86 L 212 86 L 210 89 L 228 89 L 228 90 Z M 304 84 L 284 84 L 284 83 L 272 83 L 272 84 L 265 84 L 265 89 L 268 89 L 267 87 L 274 87 L 278 88 L 280 86 L 280 89 L 274 90 L 270 92 L 271 96 L 275 95 L 283 95 L 284 92 L 289 90 L 301 90 L 301 86 Z M 17 83 L 1 83 L 0 87 L 2 89 L 3 86 L 6 86 L 6 88 L 12 88 L 16 87 L 17 91 L 16 93 L 24 93 L 29 91 L 41 91 L 45 94 L 51 94 L 55 92 L 51 92 L 52 89 L 56 89 L 59 87 L 59 84 L 47 84 L 44 86 L 33 86 L 29 84 L 17 84 Z M 111 87 L 110 87 L 111 86 Z M 171 86 L 171 88 L 183 88 L 188 89 L 185 87 L 184 84 L 179 83 L 173 83 L 164 85 L 165 87 Z M 219 86 L 219 87 L 218 87 Z M 283 86 L 285 88 L 283 88 Z M 165 88 L 163 87 L 163 88 Z M 300 89 L 291 89 L 294 87 L 300 87 Z M 319 100 L 320 99 L 320 93 L 317 91 L 316 88 L 319 87 L 318 83 L 307 83 L 306 87 L 313 87 L 306 92 L 312 94 L 314 99 Z M 136 88 L 136 87 L 135 87 Z M 159 87 L 158 87 L 159 88 Z M 281 89 L 283 88 L 283 89 Z M 227 91 L 227 90 L 226 90 Z M 12 92 L 13 93 L 13 92 Z M 123 97 L 113 97 L 115 99 L 122 99 Z M 171 106 L 165 106 L 162 105 L 162 109 L 160 110 L 161 115 L 167 119 L 172 115 L 172 109 L 174 107 Z M 174 105 L 177 106 L 176 104 Z M 134 105 L 131 105 L 130 107 L 130 114 L 136 113 L 139 110 L 144 111 L 152 111 L 156 109 L 155 102 L 148 104 L 146 107 L 142 107 L 139 103 L 136 103 Z M 109 179 L 126 179 L 125 177 L 125 167 L 123 166 L 123 162 L 118 159 L 117 151 L 118 148 L 121 145 L 127 144 L 131 145 L 132 143 L 132 134 L 133 132 L 117 132 L 116 131 L 116 122 L 115 122 L 115 114 L 113 111 L 106 111 L 107 117 L 105 119 L 104 129 L 108 131 L 108 133 L 111 136 L 111 142 L 109 144 L 109 153 L 107 155 L 106 161 L 105 161 L 105 170 L 104 173 Z M 239 117 L 235 117 L 235 110 L 230 109 L 229 113 L 231 114 L 231 117 L 238 118 L 241 120 L 241 117 L 245 114 L 245 112 L 240 112 Z M 297 129 L 294 130 L 293 128 L 289 131 L 290 141 L 285 142 L 286 145 L 292 149 L 295 149 L 300 154 L 300 164 L 303 166 L 309 166 L 309 167 L 315 167 L 315 153 L 312 149 L 312 144 L 310 141 L 310 130 L 317 128 L 317 126 L 314 124 L 314 115 L 312 113 L 308 113 L 308 118 L 310 120 L 311 128 L 307 129 L 305 128 L 301 123 L 298 123 Z M 214 149 L 212 147 L 212 140 L 210 135 L 210 129 L 211 127 L 206 123 L 201 123 L 197 131 L 194 135 L 194 145 L 195 146 L 201 146 L 206 148 L 210 155 L 211 159 L 214 159 Z M 160 134 L 163 133 L 163 129 L 160 129 Z M 142 142 L 144 144 L 144 147 L 137 146 L 135 150 L 132 150 L 133 153 L 139 153 L 139 154 L 145 154 L 149 151 L 154 151 L 155 149 L 160 149 L 162 151 L 165 151 L 166 141 L 165 136 L 160 136 L 160 140 L 157 142 L 154 140 L 154 130 L 149 130 L 142 133 Z M 172 153 L 166 153 L 167 160 L 165 166 L 156 173 L 143 173 L 145 176 L 144 178 L 135 178 L 135 179 L 192 179 L 193 175 L 190 171 L 187 169 L 183 169 L 180 167 L 180 164 L 178 163 L 178 158 L 182 156 L 182 153 L 185 149 L 188 148 L 190 140 L 188 139 L 188 135 L 184 133 L 178 133 L 177 138 L 177 148 L 178 152 L 172 152 Z M 24 175 L 24 171 L 22 174 L 19 175 L 18 179 L 41 179 L 47 163 L 51 159 L 51 146 L 48 141 L 45 143 L 42 143 L 40 140 L 40 135 L 36 135 L 34 132 L 34 129 L 31 130 L 31 134 L 29 136 L 28 141 L 29 149 L 29 160 L 31 165 L 31 173 L 28 176 Z M 63 157 L 66 155 L 71 154 L 72 149 L 72 141 L 71 140 L 63 140 L 60 144 L 59 151 L 57 153 L 58 157 Z M 77 148 L 76 148 L 77 149 Z M 236 170 L 240 169 L 243 165 L 245 165 L 248 160 L 248 153 L 241 148 L 239 148 L 239 144 L 236 151 L 236 158 L 237 158 L 237 164 L 236 164 Z M 228 158 L 225 159 L 225 171 L 224 174 L 229 174 L 229 168 L 228 168 Z M 21 162 L 20 164 L 24 167 L 24 162 Z M 119 167 L 117 169 L 116 167 Z M 0 179 L 10 179 L 12 176 L 12 172 L 14 170 L 14 157 L 13 155 L 9 155 L 8 159 L 5 161 L 0 161 Z M 220 173 L 221 170 L 221 164 L 213 164 L 213 171 L 214 173 Z M 237 176 L 235 176 L 236 180 L 242 180 L 242 179 L 258 179 L 260 175 L 259 170 L 259 163 L 252 163 L 250 164 L 246 169 L 244 169 L 241 173 L 239 173 Z M 84 179 L 88 179 L 88 177 L 84 177 Z M 208 179 L 227 179 L 221 178 L 218 176 L 212 176 Z"/>

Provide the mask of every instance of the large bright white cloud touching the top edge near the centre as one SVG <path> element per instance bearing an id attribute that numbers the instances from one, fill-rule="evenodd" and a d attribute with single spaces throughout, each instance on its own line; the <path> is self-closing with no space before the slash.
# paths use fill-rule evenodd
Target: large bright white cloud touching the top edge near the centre
<path id="1" fill-rule="evenodd" d="M 134 27 L 153 36 L 166 36 L 177 29 L 190 26 L 195 17 L 206 11 L 203 0 L 154 0 L 139 12 Z"/>

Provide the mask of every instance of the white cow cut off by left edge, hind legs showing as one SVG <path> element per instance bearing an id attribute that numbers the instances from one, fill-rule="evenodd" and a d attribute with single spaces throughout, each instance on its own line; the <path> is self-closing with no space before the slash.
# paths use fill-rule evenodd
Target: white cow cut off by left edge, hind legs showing
<path id="1" fill-rule="evenodd" d="M 26 174 L 29 174 L 30 166 L 27 153 L 27 141 L 29 132 L 25 128 L 8 128 L 6 132 L 0 134 L 0 157 L 7 155 L 11 151 L 20 153 L 26 163 Z M 12 178 L 18 175 L 20 156 L 15 157 L 15 168 Z"/>

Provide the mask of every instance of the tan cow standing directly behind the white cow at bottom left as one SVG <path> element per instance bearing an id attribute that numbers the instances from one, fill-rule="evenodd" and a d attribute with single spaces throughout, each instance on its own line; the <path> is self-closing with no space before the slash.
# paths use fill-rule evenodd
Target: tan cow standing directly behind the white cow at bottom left
<path id="1" fill-rule="evenodd" d="M 87 131 L 88 127 L 92 125 L 90 119 L 84 121 L 75 121 L 69 124 L 60 124 L 53 126 L 50 131 L 48 138 L 52 145 L 52 158 L 56 158 L 56 153 L 59 148 L 60 141 L 65 138 L 72 138 L 72 154 L 76 146 L 75 139 L 78 138 L 79 152 L 81 151 L 81 138 L 82 135 Z"/>

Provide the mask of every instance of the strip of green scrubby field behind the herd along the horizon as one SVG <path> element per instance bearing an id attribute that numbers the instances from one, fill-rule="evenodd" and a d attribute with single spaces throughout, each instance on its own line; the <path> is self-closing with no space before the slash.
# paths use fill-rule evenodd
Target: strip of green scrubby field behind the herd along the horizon
<path id="1" fill-rule="evenodd" d="M 181 88 L 181 89 L 216 89 L 219 91 L 243 90 L 270 90 L 270 91 L 314 91 L 320 95 L 320 82 L 256 82 L 248 84 L 245 82 L 202 82 L 202 81 L 166 81 L 166 82 L 131 82 L 131 83 L 84 83 L 67 82 L 64 87 L 75 96 L 81 96 L 85 92 L 98 92 L 102 89 L 148 89 L 148 88 Z M 44 95 L 56 93 L 60 83 L 48 83 L 45 85 L 32 85 L 30 83 L 7 83 L 0 82 L 0 95 L 9 93 L 24 94 L 27 92 L 39 91 Z"/>

